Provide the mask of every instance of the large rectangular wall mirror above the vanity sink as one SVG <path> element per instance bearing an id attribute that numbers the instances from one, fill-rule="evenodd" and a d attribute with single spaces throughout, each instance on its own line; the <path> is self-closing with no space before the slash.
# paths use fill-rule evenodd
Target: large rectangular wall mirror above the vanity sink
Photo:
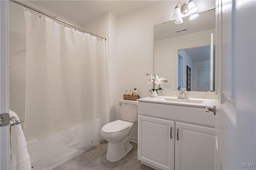
<path id="1" fill-rule="evenodd" d="M 199 13 L 196 20 L 189 20 L 189 16 L 183 18 L 182 24 L 175 24 L 174 20 L 160 23 L 154 26 L 154 74 L 168 79 L 168 83 L 162 85 L 164 90 L 179 90 L 179 51 L 194 49 L 197 47 L 210 46 L 210 88 L 198 90 L 191 82 L 191 91 L 214 91 L 215 90 L 215 8 Z M 182 29 L 186 29 L 182 31 Z M 178 33 L 177 33 L 178 31 Z M 196 54 L 196 53 L 195 53 Z M 198 55 L 198 53 L 197 53 Z M 208 54 L 207 54 L 208 55 Z M 201 56 L 201 58 L 198 56 Z M 192 59 L 194 65 L 204 61 L 202 54 L 197 59 Z M 207 57 L 206 57 L 207 58 Z M 198 60 L 198 61 L 196 61 Z M 208 60 L 208 59 L 207 59 Z M 183 64 L 183 84 L 186 82 L 186 65 Z M 191 68 L 191 74 L 198 72 L 198 67 Z M 197 74 L 198 76 L 199 74 Z M 191 75 L 191 81 L 198 83 L 199 78 Z M 199 86 L 199 85 L 198 85 Z M 202 88 L 201 88 L 202 89 Z"/>

